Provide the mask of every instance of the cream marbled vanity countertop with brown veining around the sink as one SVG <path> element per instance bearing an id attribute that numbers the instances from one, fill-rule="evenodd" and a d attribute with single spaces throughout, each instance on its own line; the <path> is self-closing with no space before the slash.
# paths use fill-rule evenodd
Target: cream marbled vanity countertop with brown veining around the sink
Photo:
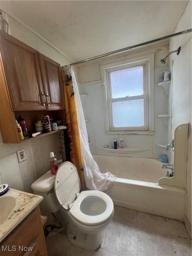
<path id="1" fill-rule="evenodd" d="M 15 206 L 3 222 L 0 223 L 0 242 L 43 200 L 42 196 L 11 188 L 0 197 L 0 200 L 3 197 L 13 197 L 15 199 Z M 9 204 L 9 198 L 7 198 L 6 204 Z M 0 205 L 0 214 L 1 211 L 3 209 Z"/>

